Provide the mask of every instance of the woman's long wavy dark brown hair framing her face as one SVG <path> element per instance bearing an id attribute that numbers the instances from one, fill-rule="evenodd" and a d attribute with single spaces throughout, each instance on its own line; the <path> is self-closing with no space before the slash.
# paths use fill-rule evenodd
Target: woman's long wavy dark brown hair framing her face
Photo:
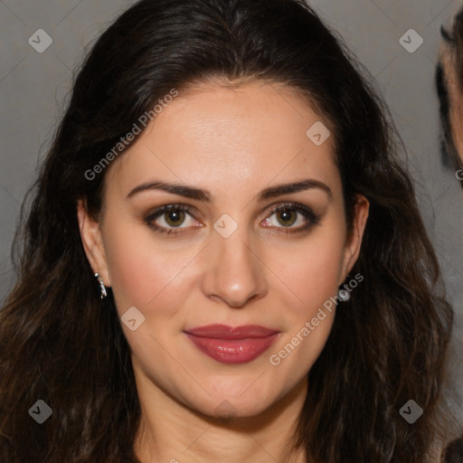
<path id="1" fill-rule="evenodd" d="M 353 274 L 308 373 L 297 445 L 315 463 L 423 463 L 439 427 L 452 323 L 387 109 L 364 69 L 302 0 L 142 0 L 101 35 L 73 85 L 14 240 L 0 312 L 0 461 L 136 463 L 140 406 L 114 298 L 80 241 L 77 201 L 98 218 L 105 172 L 85 175 L 175 88 L 208 79 L 297 89 L 334 128 L 349 227 L 370 202 Z M 119 156 L 124 156 L 120 154 Z M 89 179 L 88 177 L 91 178 Z M 409 400 L 424 411 L 409 424 Z M 38 424 L 38 401 L 52 416 Z"/>

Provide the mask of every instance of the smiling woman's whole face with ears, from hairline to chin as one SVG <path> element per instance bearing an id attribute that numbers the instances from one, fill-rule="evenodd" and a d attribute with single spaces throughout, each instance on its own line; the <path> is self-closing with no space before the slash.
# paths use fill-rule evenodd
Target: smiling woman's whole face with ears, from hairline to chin
<path id="1" fill-rule="evenodd" d="M 334 136 L 320 123 L 282 86 L 180 93 L 109 166 L 101 222 L 80 204 L 139 389 L 252 416 L 306 381 L 368 210 L 358 203 L 347 241 Z"/>

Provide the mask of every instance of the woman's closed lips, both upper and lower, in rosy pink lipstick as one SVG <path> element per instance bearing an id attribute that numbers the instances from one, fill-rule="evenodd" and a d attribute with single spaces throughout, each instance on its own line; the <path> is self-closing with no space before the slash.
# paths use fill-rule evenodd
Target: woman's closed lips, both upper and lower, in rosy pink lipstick
<path id="1" fill-rule="evenodd" d="M 222 364 L 247 364 L 274 343 L 279 331 L 257 325 L 207 325 L 184 333 L 203 354 Z"/>

